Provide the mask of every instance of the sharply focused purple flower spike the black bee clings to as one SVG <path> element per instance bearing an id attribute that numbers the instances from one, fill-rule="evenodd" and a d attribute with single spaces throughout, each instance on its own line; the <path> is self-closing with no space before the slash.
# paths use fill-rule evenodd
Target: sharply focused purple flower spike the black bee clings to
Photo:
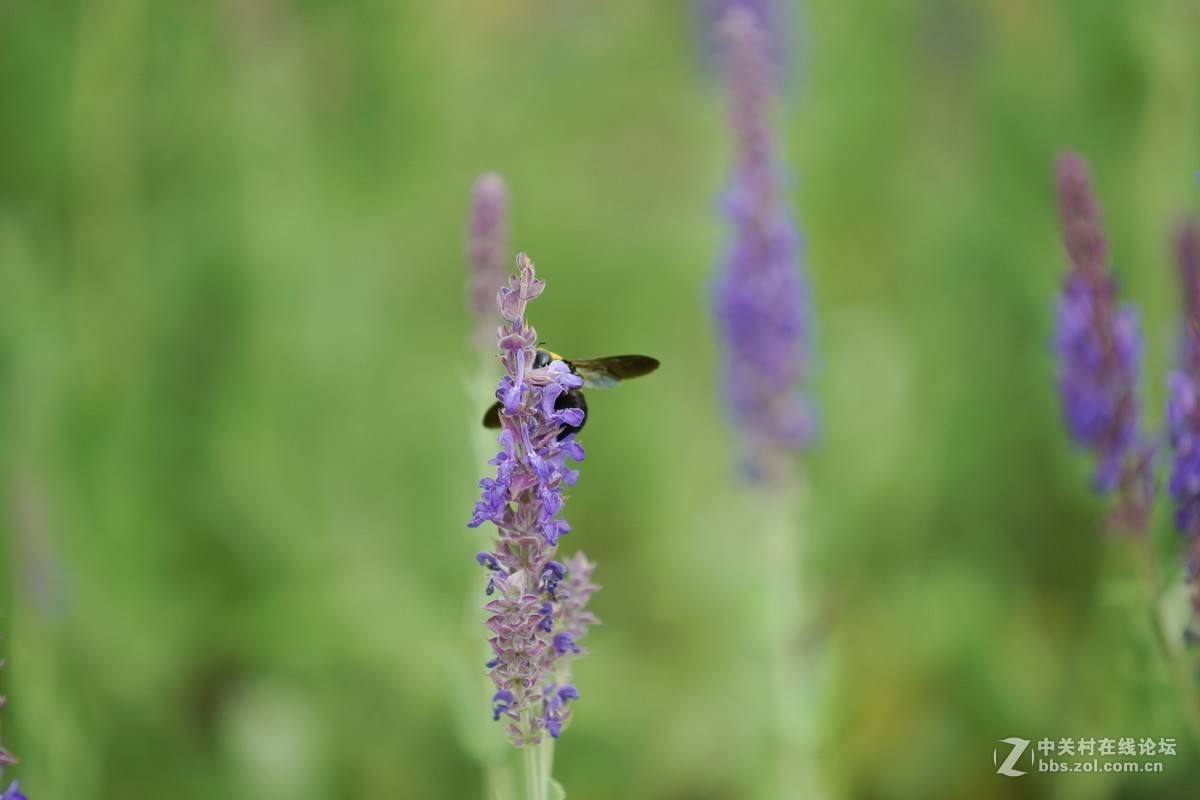
<path id="1" fill-rule="evenodd" d="M 583 461 L 583 447 L 564 426 L 577 426 L 583 411 L 558 410 L 554 402 L 582 379 L 562 361 L 533 368 L 538 333 L 526 321 L 526 306 L 542 293 L 534 265 L 517 255 L 517 273 L 500 289 L 498 301 L 505 324 L 497 331 L 506 374 L 496 397 L 503 404 L 500 451 L 488 463 L 496 477 L 482 489 L 472 528 L 492 522 L 498 531 L 494 549 L 475 560 L 487 570 L 486 625 L 494 657 L 487 662 L 497 686 L 492 697 L 496 720 L 508 720 L 514 745 L 538 745 L 544 734 L 558 736 L 570 718 L 568 703 L 578 697 L 568 685 L 570 658 L 581 655 L 575 640 L 596 620 L 586 609 L 595 587 L 594 565 L 582 554 L 556 561 L 559 537 L 570 525 L 558 517 L 564 491 L 578 471 L 568 459 Z"/>

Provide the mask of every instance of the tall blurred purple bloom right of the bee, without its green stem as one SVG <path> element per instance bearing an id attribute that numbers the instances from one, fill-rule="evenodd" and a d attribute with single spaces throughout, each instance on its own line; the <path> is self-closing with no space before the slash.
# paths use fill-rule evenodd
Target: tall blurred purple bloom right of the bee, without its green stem
<path id="1" fill-rule="evenodd" d="M 725 395 L 751 473 L 804 447 L 815 414 L 802 390 L 812 360 L 800 235 L 785 197 L 768 113 L 769 40 L 756 14 L 734 6 L 720 24 L 738 163 L 725 194 L 733 235 L 716 279 L 725 342 Z"/>

